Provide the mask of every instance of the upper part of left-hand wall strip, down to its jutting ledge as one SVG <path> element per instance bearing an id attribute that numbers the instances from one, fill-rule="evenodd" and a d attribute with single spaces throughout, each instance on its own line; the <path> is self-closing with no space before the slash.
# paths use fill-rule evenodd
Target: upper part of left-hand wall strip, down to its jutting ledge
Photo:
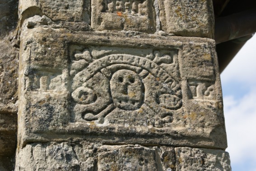
<path id="1" fill-rule="evenodd" d="M 18 53 L 17 4 L 15 0 L 0 1 L 0 112 L 17 112 Z"/>

